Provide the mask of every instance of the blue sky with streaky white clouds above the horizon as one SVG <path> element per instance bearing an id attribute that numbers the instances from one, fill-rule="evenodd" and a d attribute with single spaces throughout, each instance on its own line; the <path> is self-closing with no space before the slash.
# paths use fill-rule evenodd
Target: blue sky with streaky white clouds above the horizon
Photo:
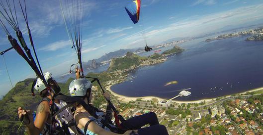
<path id="1" fill-rule="evenodd" d="M 77 56 L 71 49 L 59 0 L 26 1 L 29 25 L 43 70 L 55 75 L 68 72 Z M 133 24 L 124 9 L 131 0 L 87 1 L 83 61 L 120 48 L 143 47 L 142 33 L 149 45 L 156 45 L 173 38 L 263 23 L 263 0 L 142 0 L 138 24 Z M 22 16 L 18 16 L 18 20 L 21 20 L 20 29 L 25 31 Z M 8 47 L 6 35 L 0 29 L 0 51 Z M 13 84 L 34 77 L 31 68 L 14 50 L 4 57 Z M 0 95 L 10 90 L 2 58 L 0 88 Z"/>

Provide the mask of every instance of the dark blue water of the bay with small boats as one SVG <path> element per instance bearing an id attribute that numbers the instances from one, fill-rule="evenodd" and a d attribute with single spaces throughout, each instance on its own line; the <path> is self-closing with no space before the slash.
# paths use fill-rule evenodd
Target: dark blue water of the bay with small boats
<path id="1" fill-rule="evenodd" d="M 263 41 L 247 42 L 247 37 L 183 43 L 179 46 L 185 51 L 169 56 L 164 63 L 131 71 L 133 80 L 111 89 L 126 96 L 169 99 L 191 88 L 190 96 L 176 100 L 198 100 L 263 87 Z M 178 84 L 165 86 L 170 81 Z"/>

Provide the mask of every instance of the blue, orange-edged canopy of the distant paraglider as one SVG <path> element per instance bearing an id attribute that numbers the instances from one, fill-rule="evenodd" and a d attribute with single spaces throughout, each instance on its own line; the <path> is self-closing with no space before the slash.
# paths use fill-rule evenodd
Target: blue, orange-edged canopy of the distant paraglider
<path id="1" fill-rule="evenodd" d="M 141 0 L 134 0 L 130 4 L 125 6 L 126 11 L 134 24 L 136 24 L 139 21 L 140 7 L 141 7 Z"/>

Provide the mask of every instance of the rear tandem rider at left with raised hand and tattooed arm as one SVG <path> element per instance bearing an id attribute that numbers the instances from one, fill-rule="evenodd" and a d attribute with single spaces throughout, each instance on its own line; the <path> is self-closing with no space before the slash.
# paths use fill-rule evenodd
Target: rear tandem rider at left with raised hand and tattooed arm
<path id="1" fill-rule="evenodd" d="M 53 90 L 56 93 L 60 92 L 60 87 L 58 86 L 57 82 L 53 80 L 51 73 L 45 73 L 44 78 L 47 81 L 49 87 L 52 90 L 46 89 L 46 86 L 41 81 L 40 78 L 37 78 L 37 80 L 33 83 L 32 87 L 34 87 L 35 90 L 37 90 L 43 99 L 39 102 L 36 110 L 36 117 L 33 121 L 33 116 L 31 110 L 24 110 L 22 107 L 18 107 L 18 116 L 19 119 L 22 117 L 23 124 L 27 128 L 27 133 L 29 135 L 47 135 L 49 134 L 49 129 L 52 129 L 52 133 L 54 135 L 66 135 L 65 131 L 63 132 L 62 129 L 59 130 L 62 127 L 63 123 L 68 124 L 71 120 L 73 120 L 73 114 L 71 110 L 65 109 L 61 113 L 59 113 L 57 116 L 55 116 L 56 123 L 52 123 L 51 119 L 51 111 L 50 111 L 50 101 L 52 99 L 52 96 L 54 95 Z M 54 108 L 60 109 L 67 105 L 66 102 L 62 100 L 55 99 Z M 26 118 L 25 118 L 26 117 Z M 73 127 L 72 127 L 73 128 Z M 75 127 L 76 128 L 76 127 Z M 55 131 L 56 130 L 56 131 Z M 69 129 L 70 134 L 74 135 L 74 132 Z"/>

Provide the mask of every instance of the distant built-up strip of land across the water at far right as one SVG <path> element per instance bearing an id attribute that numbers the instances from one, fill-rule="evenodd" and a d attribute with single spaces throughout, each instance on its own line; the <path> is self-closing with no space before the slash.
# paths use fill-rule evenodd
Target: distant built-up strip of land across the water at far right
<path id="1" fill-rule="evenodd" d="M 222 40 L 232 37 L 238 37 L 238 36 L 245 36 L 245 35 L 253 35 L 252 37 L 248 38 L 247 41 L 254 41 L 254 40 L 262 40 L 263 38 L 263 28 L 257 28 L 254 30 L 247 30 L 237 33 L 230 33 L 230 34 L 224 34 L 217 37 L 214 37 L 212 39 L 206 39 L 205 42 L 210 42 L 213 40 Z"/>

